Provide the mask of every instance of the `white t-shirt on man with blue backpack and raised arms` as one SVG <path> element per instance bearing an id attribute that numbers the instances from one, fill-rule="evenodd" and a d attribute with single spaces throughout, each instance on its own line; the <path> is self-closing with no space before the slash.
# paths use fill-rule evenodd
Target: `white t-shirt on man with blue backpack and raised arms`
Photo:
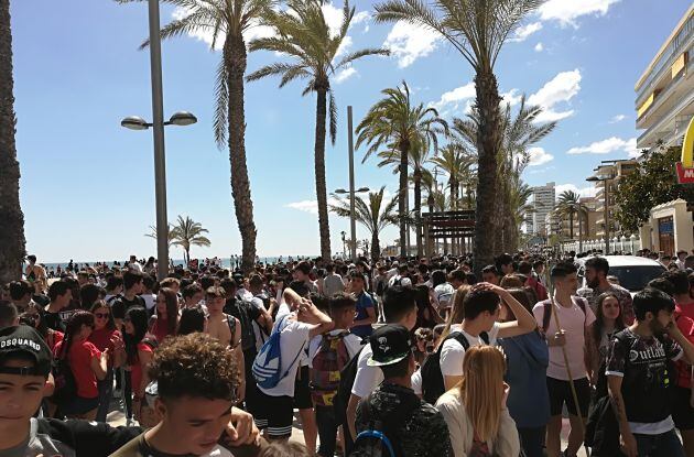
<path id="1" fill-rule="evenodd" d="M 279 314 L 279 313 L 278 313 Z M 278 325 L 280 323 L 278 316 Z M 293 316 L 294 318 L 296 315 Z M 308 347 L 308 334 L 313 326 L 311 324 L 293 320 L 288 317 L 289 323 L 282 329 L 280 337 L 280 350 L 282 352 L 282 374 L 289 369 L 289 373 L 272 389 L 263 389 L 258 385 L 263 393 L 270 396 L 294 396 L 294 380 L 296 379 L 296 370 L 303 358 L 305 358 Z M 299 357 L 296 357 L 299 355 Z M 291 367 L 290 367 L 290 363 Z"/>

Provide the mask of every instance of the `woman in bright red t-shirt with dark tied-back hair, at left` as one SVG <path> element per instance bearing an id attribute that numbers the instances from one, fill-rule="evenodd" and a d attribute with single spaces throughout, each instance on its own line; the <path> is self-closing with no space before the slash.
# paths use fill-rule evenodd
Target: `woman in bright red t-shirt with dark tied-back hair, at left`
<path id="1" fill-rule="evenodd" d="M 94 330 L 94 315 L 77 311 L 65 328 L 65 339 L 55 346 L 54 356 L 67 360 L 75 379 L 76 395 L 61 402 L 61 413 L 67 417 L 94 421 L 99 406 L 97 380 L 104 380 L 108 369 L 108 349 L 100 351 L 88 341 Z"/>

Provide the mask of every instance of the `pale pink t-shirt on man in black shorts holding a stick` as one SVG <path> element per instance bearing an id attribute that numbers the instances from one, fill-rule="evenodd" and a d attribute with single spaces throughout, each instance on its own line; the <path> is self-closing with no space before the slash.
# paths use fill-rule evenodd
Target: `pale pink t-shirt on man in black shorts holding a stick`
<path id="1" fill-rule="evenodd" d="M 582 300 L 582 298 L 576 298 Z M 576 300 L 573 300 L 573 306 L 571 308 L 564 307 L 559 303 L 554 303 L 554 309 L 557 312 L 560 324 L 566 333 L 566 357 L 568 358 L 568 364 L 571 368 L 571 374 L 574 379 L 583 379 L 588 374 L 586 372 L 586 363 L 584 350 L 586 347 L 585 327 L 589 327 L 595 322 L 595 314 L 590 306 L 586 304 L 586 313 L 581 311 L 581 307 L 576 304 Z M 538 303 L 532 308 L 532 314 L 538 320 L 538 325 L 542 328 L 542 320 L 544 318 L 544 302 Z M 554 316 L 551 316 L 550 326 L 547 327 L 546 335 L 553 336 L 556 334 L 556 325 Z M 566 364 L 564 363 L 564 355 L 561 346 L 550 346 L 550 366 L 547 367 L 547 377 L 559 379 L 562 381 L 568 381 L 568 374 L 566 373 Z"/>

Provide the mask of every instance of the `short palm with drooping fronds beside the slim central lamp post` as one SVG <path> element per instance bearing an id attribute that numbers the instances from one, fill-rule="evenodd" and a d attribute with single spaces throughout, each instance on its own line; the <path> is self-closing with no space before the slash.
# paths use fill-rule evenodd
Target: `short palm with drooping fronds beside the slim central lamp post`
<path id="1" fill-rule="evenodd" d="M 377 262 L 381 254 L 379 235 L 390 226 L 397 225 L 399 217 L 395 213 L 398 196 L 389 202 L 383 202 L 386 186 L 379 192 L 370 192 L 369 200 L 366 202 L 361 196 L 355 197 L 355 217 L 357 222 L 361 224 L 371 233 L 371 260 Z M 333 195 L 337 200 L 335 205 L 330 205 L 330 210 L 340 217 L 349 217 L 349 199 Z"/>

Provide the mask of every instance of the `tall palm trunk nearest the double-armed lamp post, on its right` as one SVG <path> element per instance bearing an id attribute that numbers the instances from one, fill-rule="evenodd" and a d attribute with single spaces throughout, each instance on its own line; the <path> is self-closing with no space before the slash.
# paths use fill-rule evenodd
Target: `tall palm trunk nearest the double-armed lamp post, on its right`
<path id="1" fill-rule="evenodd" d="M 229 89 L 229 163 L 231 166 L 231 197 L 236 220 L 241 233 L 241 270 L 250 273 L 256 265 L 256 222 L 253 200 L 246 165 L 246 112 L 243 107 L 243 74 L 246 73 L 246 43 L 241 35 L 228 35 L 225 42 L 225 65 Z"/>

